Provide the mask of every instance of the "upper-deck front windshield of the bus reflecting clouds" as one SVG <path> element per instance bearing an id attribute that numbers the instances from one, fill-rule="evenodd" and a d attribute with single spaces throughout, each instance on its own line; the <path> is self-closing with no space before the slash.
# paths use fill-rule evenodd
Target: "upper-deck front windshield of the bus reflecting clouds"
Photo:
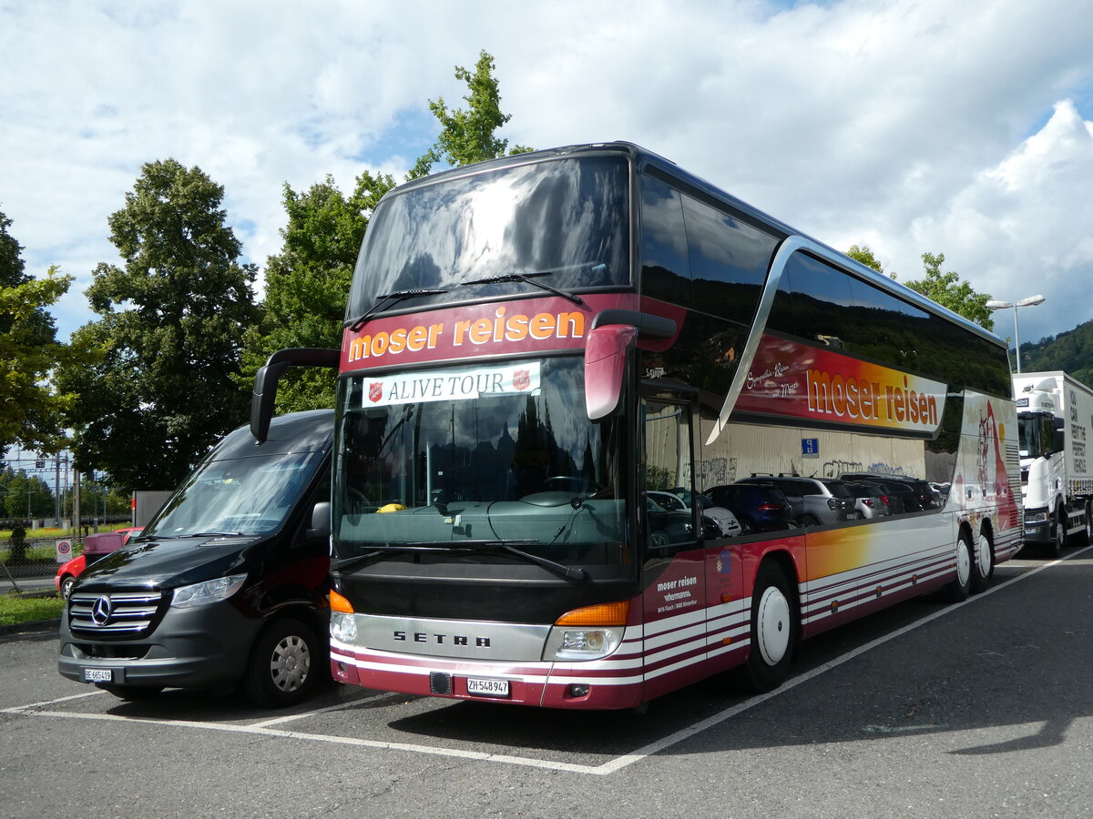
<path id="1" fill-rule="evenodd" d="M 513 274 L 564 290 L 630 284 L 628 180 L 623 157 L 585 156 L 389 195 L 368 225 L 346 319 L 391 294 L 412 293 L 390 305 L 406 307 L 534 292 L 482 281 Z"/>

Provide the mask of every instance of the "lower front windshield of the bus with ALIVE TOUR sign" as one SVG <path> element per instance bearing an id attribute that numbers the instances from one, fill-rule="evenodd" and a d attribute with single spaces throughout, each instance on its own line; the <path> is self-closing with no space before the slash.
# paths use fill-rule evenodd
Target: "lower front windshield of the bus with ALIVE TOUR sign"
<path id="1" fill-rule="evenodd" d="M 552 357 L 344 381 L 336 559 L 508 544 L 619 563 L 620 425 L 588 420 L 581 373 Z"/>

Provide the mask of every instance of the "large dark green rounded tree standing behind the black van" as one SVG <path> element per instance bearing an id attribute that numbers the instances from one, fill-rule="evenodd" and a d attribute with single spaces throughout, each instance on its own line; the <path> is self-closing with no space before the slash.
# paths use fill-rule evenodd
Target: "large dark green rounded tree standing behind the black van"
<path id="1" fill-rule="evenodd" d="M 86 294 L 102 318 L 74 334 L 102 357 L 58 373 L 80 393 L 70 418 L 81 472 L 169 489 L 246 419 L 249 395 L 232 376 L 258 316 L 255 268 L 238 261 L 223 198 L 200 168 L 165 159 L 142 167 L 109 217 L 124 265 L 95 268 Z"/>

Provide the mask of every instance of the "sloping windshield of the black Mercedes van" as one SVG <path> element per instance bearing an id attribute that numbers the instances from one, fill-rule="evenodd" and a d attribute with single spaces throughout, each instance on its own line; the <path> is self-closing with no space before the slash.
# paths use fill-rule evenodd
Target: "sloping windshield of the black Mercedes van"
<path id="1" fill-rule="evenodd" d="M 284 524 L 322 462 L 317 452 L 200 464 L 141 535 L 262 535 Z"/>

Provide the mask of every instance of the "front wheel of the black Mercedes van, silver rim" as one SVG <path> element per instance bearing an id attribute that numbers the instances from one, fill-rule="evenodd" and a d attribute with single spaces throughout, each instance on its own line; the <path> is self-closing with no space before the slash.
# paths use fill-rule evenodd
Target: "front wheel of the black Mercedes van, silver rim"
<path id="1" fill-rule="evenodd" d="M 285 708 L 303 701 L 318 676 L 312 663 L 319 656 L 315 631 L 285 617 L 267 626 L 255 641 L 243 689 L 256 705 Z"/>

